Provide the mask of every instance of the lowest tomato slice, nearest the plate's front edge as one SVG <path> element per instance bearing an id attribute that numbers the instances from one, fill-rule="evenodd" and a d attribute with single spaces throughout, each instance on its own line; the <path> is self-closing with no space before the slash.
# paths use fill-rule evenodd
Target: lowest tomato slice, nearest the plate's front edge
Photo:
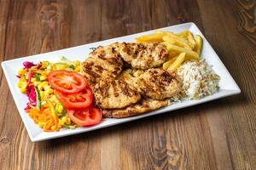
<path id="1" fill-rule="evenodd" d="M 102 120 L 102 110 L 94 107 L 88 110 L 67 110 L 67 115 L 81 127 L 95 125 Z"/>

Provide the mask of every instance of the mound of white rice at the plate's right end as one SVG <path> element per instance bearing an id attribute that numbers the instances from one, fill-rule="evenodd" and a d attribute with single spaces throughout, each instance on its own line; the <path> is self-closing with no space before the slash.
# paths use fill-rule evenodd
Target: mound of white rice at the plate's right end
<path id="1" fill-rule="evenodd" d="M 177 69 L 177 81 L 181 92 L 172 100 L 201 99 L 218 91 L 219 77 L 204 59 L 187 61 L 181 65 Z"/>

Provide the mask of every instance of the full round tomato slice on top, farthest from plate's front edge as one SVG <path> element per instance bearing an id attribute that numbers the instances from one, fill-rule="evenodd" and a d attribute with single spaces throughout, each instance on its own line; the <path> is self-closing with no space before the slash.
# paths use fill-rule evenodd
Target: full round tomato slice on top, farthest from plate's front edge
<path id="1" fill-rule="evenodd" d="M 75 94 L 88 86 L 82 75 L 73 71 L 51 71 L 49 85 L 64 94 Z"/>

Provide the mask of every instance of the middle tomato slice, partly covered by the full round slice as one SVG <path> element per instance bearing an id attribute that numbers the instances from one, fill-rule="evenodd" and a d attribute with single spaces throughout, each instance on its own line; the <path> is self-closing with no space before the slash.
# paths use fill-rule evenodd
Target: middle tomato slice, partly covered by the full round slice
<path id="1" fill-rule="evenodd" d="M 84 88 L 77 94 L 62 94 L 55 91 L 55 95 L 67 109 L 88 109 L 93 102 L 90 88 Z"/>

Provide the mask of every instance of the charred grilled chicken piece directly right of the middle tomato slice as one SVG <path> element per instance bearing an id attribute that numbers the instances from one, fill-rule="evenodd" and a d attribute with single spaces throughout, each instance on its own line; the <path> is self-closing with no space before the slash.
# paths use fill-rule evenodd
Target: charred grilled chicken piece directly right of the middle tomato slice
<path id="1" fill-rule="evenodd" d="M 128 83 L 120 80 L 102 80 L 93 88 L 96 105 L 102 109 L 119 109 L 137 103 L 141 95 Z"/>

